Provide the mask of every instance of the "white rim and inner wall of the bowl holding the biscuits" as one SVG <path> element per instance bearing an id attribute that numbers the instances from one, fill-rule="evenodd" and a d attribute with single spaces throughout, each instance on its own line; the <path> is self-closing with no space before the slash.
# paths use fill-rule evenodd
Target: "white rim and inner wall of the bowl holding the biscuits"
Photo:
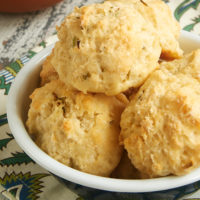
<path id="1" fill-rule="evenodd" d="M 200 37 L 183 31 L 180 37 L 181 47 L 185 52 L 200 48 Z M 180 187 L 200 180 L 200 168 L 185 176 L 168 176 L 146 180 L 120 180 L 98 177 L 67 167 L 44 153 L 29 137 L 25 120 L 30 100 L 28 96 L 38 86 L 39 71 L 46 56 L 53 46 L 38 53 L 18 73 L 11 86 L 7 116 L 10 129 L 21 148 L 40 166 L 58 177 L 89 188 L 113 192 L 152 192 Z"/>

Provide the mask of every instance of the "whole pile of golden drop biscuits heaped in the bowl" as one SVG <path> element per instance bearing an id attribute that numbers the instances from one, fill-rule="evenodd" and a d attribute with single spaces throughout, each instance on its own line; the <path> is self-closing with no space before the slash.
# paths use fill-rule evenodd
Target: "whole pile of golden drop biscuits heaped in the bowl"
<path id="1" fill-rule="evenodd" d="M 200 166 L 200 50 L 183 55 L 163 1 L 75 8 L 57 31 L 26 122 L 43 151 L 124 179 Z"/>

